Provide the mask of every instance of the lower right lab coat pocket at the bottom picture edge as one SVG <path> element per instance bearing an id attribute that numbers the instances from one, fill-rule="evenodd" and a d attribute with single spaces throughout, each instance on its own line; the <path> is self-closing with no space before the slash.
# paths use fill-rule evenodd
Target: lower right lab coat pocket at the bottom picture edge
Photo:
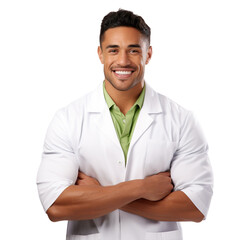
<path id="1" fill-rule="evenodd" d="M 182 240 L 182 231 L 146 233 L 145 240 Z"/>

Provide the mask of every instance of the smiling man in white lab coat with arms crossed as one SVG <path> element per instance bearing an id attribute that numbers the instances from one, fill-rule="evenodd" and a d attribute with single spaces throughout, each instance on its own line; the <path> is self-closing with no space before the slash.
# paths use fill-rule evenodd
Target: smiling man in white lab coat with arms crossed
<path id="1" fill-rule="evenodd" d="M 132 12 L 104 17 L 101 86 L 59 110 L 37 184 L 67 239 L 182 239 L 180 221 L 202 221 L 212 196 L 207 143 L 192 114 L 144 81 L 150 28 Z"/>

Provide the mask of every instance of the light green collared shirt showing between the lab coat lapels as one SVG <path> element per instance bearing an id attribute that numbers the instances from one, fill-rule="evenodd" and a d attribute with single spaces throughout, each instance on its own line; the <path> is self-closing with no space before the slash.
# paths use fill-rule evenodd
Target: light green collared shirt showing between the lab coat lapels
<path id="1" fill-rule="evenodd" d="M 113 124 L 116 130 L 118 139 L 120 141 L 120 144 L 124 153 L 125 164 L 126 164 L 128 148 L 131 142 L 135 125 L 137 123 L 138 115 L 140 113 L 140 110 L 142 108 L 143 101 L 144 101 L 145 86 L 140 96 L 138 97 L 137 101 L 131 107 L 131 109 L 127 112 L 126 115 L 124 115 L 120 111 L 119 107 L 116 105 L 116 103 L 112 100 L 112 98 L 107 93 L 105 88 L 105 83 L 103 84 L 103 93 L 111 113 L 111 117 L 113 120 Z"/>

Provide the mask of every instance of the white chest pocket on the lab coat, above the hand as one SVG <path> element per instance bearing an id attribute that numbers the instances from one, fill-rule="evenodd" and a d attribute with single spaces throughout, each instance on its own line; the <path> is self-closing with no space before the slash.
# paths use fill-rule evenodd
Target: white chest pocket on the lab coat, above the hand
<path id="1" fill-rule="evenodd" d="M 145 176 L 170 170 L 176 142 L 149 140 L 145 161 Z"/>

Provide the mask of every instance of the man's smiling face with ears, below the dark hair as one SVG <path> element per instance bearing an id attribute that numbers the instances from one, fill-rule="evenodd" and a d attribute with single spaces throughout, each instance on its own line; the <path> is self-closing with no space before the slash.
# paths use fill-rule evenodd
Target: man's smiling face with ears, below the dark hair
<path id="1" fill-rule="evenodd" d="M 108 29 L 98 55 L 104 65 L 105 80 L 119 91 L 143 85 L 145 65 L 152 56 L 147 39 L 135 28 Z"/>

